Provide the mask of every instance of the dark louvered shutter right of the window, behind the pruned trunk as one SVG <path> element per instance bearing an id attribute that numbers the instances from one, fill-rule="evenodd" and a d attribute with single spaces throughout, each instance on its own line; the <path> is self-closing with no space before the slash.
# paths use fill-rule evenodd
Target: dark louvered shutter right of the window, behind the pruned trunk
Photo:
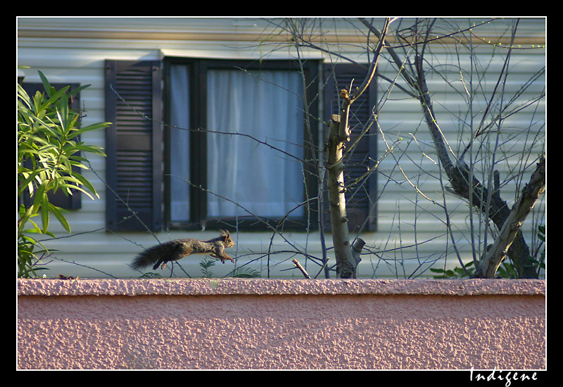
<path id="1" fill-rule="evenodd" d="M 331 114 L 339 113 L 339 91 L 341 89 L 352 89 L 362 84 L 367 73 L 367 65 L 339 64 L 327 65 L 324 68 L 324 79 L 327 82 L 324 87 L 324 120 L 330 122 Z M 350 118 L 348 120 L 351 136 L 350 146 L 355 144 L 353 151 L 348 153 L 345 159 L 346 171 L 344 182 L 346 184 L 346 212 L 350 232 L 357 231 L 362 227 L 365 220 L 367 224 L 365 231 L 375 231 L 376 221 L 376 188 L 377 178 L 375 173 L 366 174 L 368 167 L 373 167 L 377 160 L 377 128 L 375 125 L 369 127 L 366 133 L 365 125 L 374 113 L 377 103 L 377 84 L 375 77 L 360 99 L 350 106 Z M 330 224 L 327 210 L 327 225 Z"/>

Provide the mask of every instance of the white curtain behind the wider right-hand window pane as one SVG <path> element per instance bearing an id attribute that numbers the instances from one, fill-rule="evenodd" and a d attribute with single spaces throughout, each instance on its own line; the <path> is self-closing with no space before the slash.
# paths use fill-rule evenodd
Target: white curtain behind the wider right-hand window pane
<path id="1" fill-rule="evenodd" d="M 208 217 L 279 217 L 303 202 L 301 163 L 236 135 L 302 159 L 302 89 L 298 72 L 208 72 L 207 129 L 222 132 L 207 137 L 208 190 L 214 193 L 208 194 Z M 291 215 L 303 215 L 303 208 Z"/>

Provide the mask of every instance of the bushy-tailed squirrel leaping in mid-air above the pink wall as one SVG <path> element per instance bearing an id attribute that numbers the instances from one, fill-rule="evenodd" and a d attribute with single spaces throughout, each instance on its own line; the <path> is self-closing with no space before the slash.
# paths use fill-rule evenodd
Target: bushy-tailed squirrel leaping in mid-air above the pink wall
<path id="1" fill-rule="evenodd" d="M 179 260 L 191 254 L 208 254 L 221 260 L 222 263 L 225 260 L 234 262 L 234 259 L 224 252 L 225 248 L 232 246 L 234 246 L 234 241 L 231 239 L 229 231 L 221 230 L 220 236 L 208 241 L 176 239 L 175 241 L 160 243 L 137 255 L 129 266 L 133 269 L 142 269 L 154 265 L 153 270 L 158 269 L 159 266 L 160 269 L 164 269 L 167 262 Z"/>

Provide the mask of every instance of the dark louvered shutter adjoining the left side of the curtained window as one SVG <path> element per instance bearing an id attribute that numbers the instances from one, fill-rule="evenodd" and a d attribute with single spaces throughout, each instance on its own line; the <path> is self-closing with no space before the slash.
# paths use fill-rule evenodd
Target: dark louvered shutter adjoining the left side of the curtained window
<path id="1" fill-rule="evenodd" d="M 113 231 L 162 224 L 163 128 L 159 61 L 106 61 L 106 223 Z"/>

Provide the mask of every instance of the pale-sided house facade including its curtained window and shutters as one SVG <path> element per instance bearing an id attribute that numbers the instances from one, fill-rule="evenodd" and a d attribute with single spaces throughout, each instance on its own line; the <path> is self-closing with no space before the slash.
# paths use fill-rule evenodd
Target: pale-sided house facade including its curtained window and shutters
<path id="1" fill-rule="evenodd" d="M 401 40 L 414 22 L 392 24 L 389 42 L 403 59 L 415 55 Z M 452 153 L 469 150 L 465 160 L 483 181 L 500 172 L 510 205 L 545 146 L 545 20 L 519 20 L 514 40 L 514 20 L 437 23 L 441 39 L 425 56 L 436 119 Z M 308 44 L 295 44 L 296 25 Z M 472 38 L 448 38 L 453 32 Z M 237 262 L 210 267 L 215 276 L 238 268 L 302 278 L 297 259 L 324 277 L 319 262 L 333 265 L 334 255 L 323 144 L 340 89 L 367 73 L 369 39 L 374 46 L 360 20 L 344 18 L 18 18 L 17 61 L 30 67 L 18 70 L 23 86 L 37 87 L 37 70 L 52 84 L 90 84 L 76 102 L 82 122 L 112 122 L 82 136 L 106 151 L 84 155 L 101 198 L 68 203 L 71 234 L 51 222 L 47 275 L 139 277 L 128 264 L 144 248 L 228 229 Z M 366 241 L 360 277 L 431 276 L 430 267 L 459 266 L 492 243 L 495 229 L 483 231 L 483 217 L 448 194 L 420 104 L 391 56 L 351 113 L 346 182 L 350 236 Z M 482 117 L 488 135 L 477 150 L 467 146 L 477 137 L 468 128 Z M 495 153 L 492 162 L 481 163 L 481 148 Z M 543 224 L 542 199 L 526 222 L 531 250 Z M 201 277 L 205 259 L 181 260 L 173 274 Z"/>

